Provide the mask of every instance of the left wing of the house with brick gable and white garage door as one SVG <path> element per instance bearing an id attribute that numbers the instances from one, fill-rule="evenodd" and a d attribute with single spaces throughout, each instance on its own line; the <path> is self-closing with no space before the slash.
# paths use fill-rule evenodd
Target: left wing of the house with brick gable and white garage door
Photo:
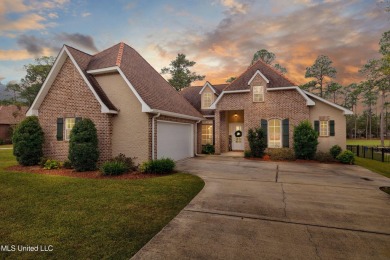
<path id="1" fill-rule="evenodd" d="M 204 119 L 124 43 L 95 55 L 64 45 L 27 115 L 39 118 L 47 158 L 66 160 L 75 122 L 90 118 L 100 162 L 123 153 L 137 163 L 194 156 Z"/>

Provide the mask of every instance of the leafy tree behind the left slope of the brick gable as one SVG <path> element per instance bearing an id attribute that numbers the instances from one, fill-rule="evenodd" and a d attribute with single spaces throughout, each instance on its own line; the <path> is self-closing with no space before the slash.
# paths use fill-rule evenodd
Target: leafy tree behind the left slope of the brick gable
<path id="1" fill-rule="evenodd" d="M 54 57 L 43 56 L 35 59 L 34 64 L 25 65 L 26 76 L 21 79 L 19 96 L 24 99 L 28 106 L 34 102 L 36 95 L 49 74 L 55 61 Z"/>

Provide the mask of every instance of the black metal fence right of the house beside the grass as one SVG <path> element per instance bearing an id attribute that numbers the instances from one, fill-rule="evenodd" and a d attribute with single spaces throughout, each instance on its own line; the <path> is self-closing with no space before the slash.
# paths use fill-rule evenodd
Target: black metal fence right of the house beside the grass
<path id="1" fill-rule="evenodd" d="M 356 156 L 376 160 L 380 162 L 390 162 L 389 147 L 369 147 L 364 145 L 347 145 L 347 150 Z"/>

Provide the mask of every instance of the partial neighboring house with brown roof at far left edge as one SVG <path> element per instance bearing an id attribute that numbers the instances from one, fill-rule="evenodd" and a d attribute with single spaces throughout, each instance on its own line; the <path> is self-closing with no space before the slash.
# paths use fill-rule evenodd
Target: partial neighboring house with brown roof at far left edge
<path id="1" fill-rule="evenodd" d="M 11 143 L 12 127 L 26 117 L 27 109 L 25 106 L 0 106 L 0 143 Z"/>

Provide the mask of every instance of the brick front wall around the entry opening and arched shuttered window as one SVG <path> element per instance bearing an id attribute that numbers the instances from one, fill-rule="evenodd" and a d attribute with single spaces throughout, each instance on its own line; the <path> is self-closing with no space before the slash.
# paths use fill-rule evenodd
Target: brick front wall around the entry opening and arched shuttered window
<path id="1" fill-rule="evenodd" d="M 252 87 L 267 86 L 264 79 L 257 75 L 251 82 L 250 92 L 224 94 L 215 111 L 216 153 L 228 149 L 228 122 L 225 111 L 244 110 L 244 146 L 249 149 L 246 133 L 249 128 L 259 127 L 261 119 L 289 119 L 290 147 L 293 146 L 294 126 L 309 119 L 309 107 L 306 100 L 296 90 L 264 91 L 264 102 L 253 102 Z M 218 134 L 219 133 L 219 134 Z"/>

